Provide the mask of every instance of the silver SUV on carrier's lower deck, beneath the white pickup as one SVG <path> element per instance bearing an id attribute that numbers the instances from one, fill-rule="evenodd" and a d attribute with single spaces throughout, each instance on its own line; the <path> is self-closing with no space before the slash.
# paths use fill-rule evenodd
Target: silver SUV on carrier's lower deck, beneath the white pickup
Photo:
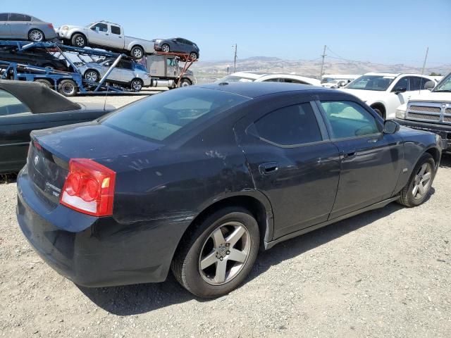
<path id="1" fill-rule="evenodd" d="M 113 64 L 114 59 L 100 58 L 96 62 L 77 64 L 78 70 L 85 80 L 99 82 Z M 149 87 L 151 84 L 150 74 L 144 65 L 129 60 L 121 60 L 107 77 L 111 83 L 127 85 L 135 92 L 139 92 L 142 87 Z"/>

